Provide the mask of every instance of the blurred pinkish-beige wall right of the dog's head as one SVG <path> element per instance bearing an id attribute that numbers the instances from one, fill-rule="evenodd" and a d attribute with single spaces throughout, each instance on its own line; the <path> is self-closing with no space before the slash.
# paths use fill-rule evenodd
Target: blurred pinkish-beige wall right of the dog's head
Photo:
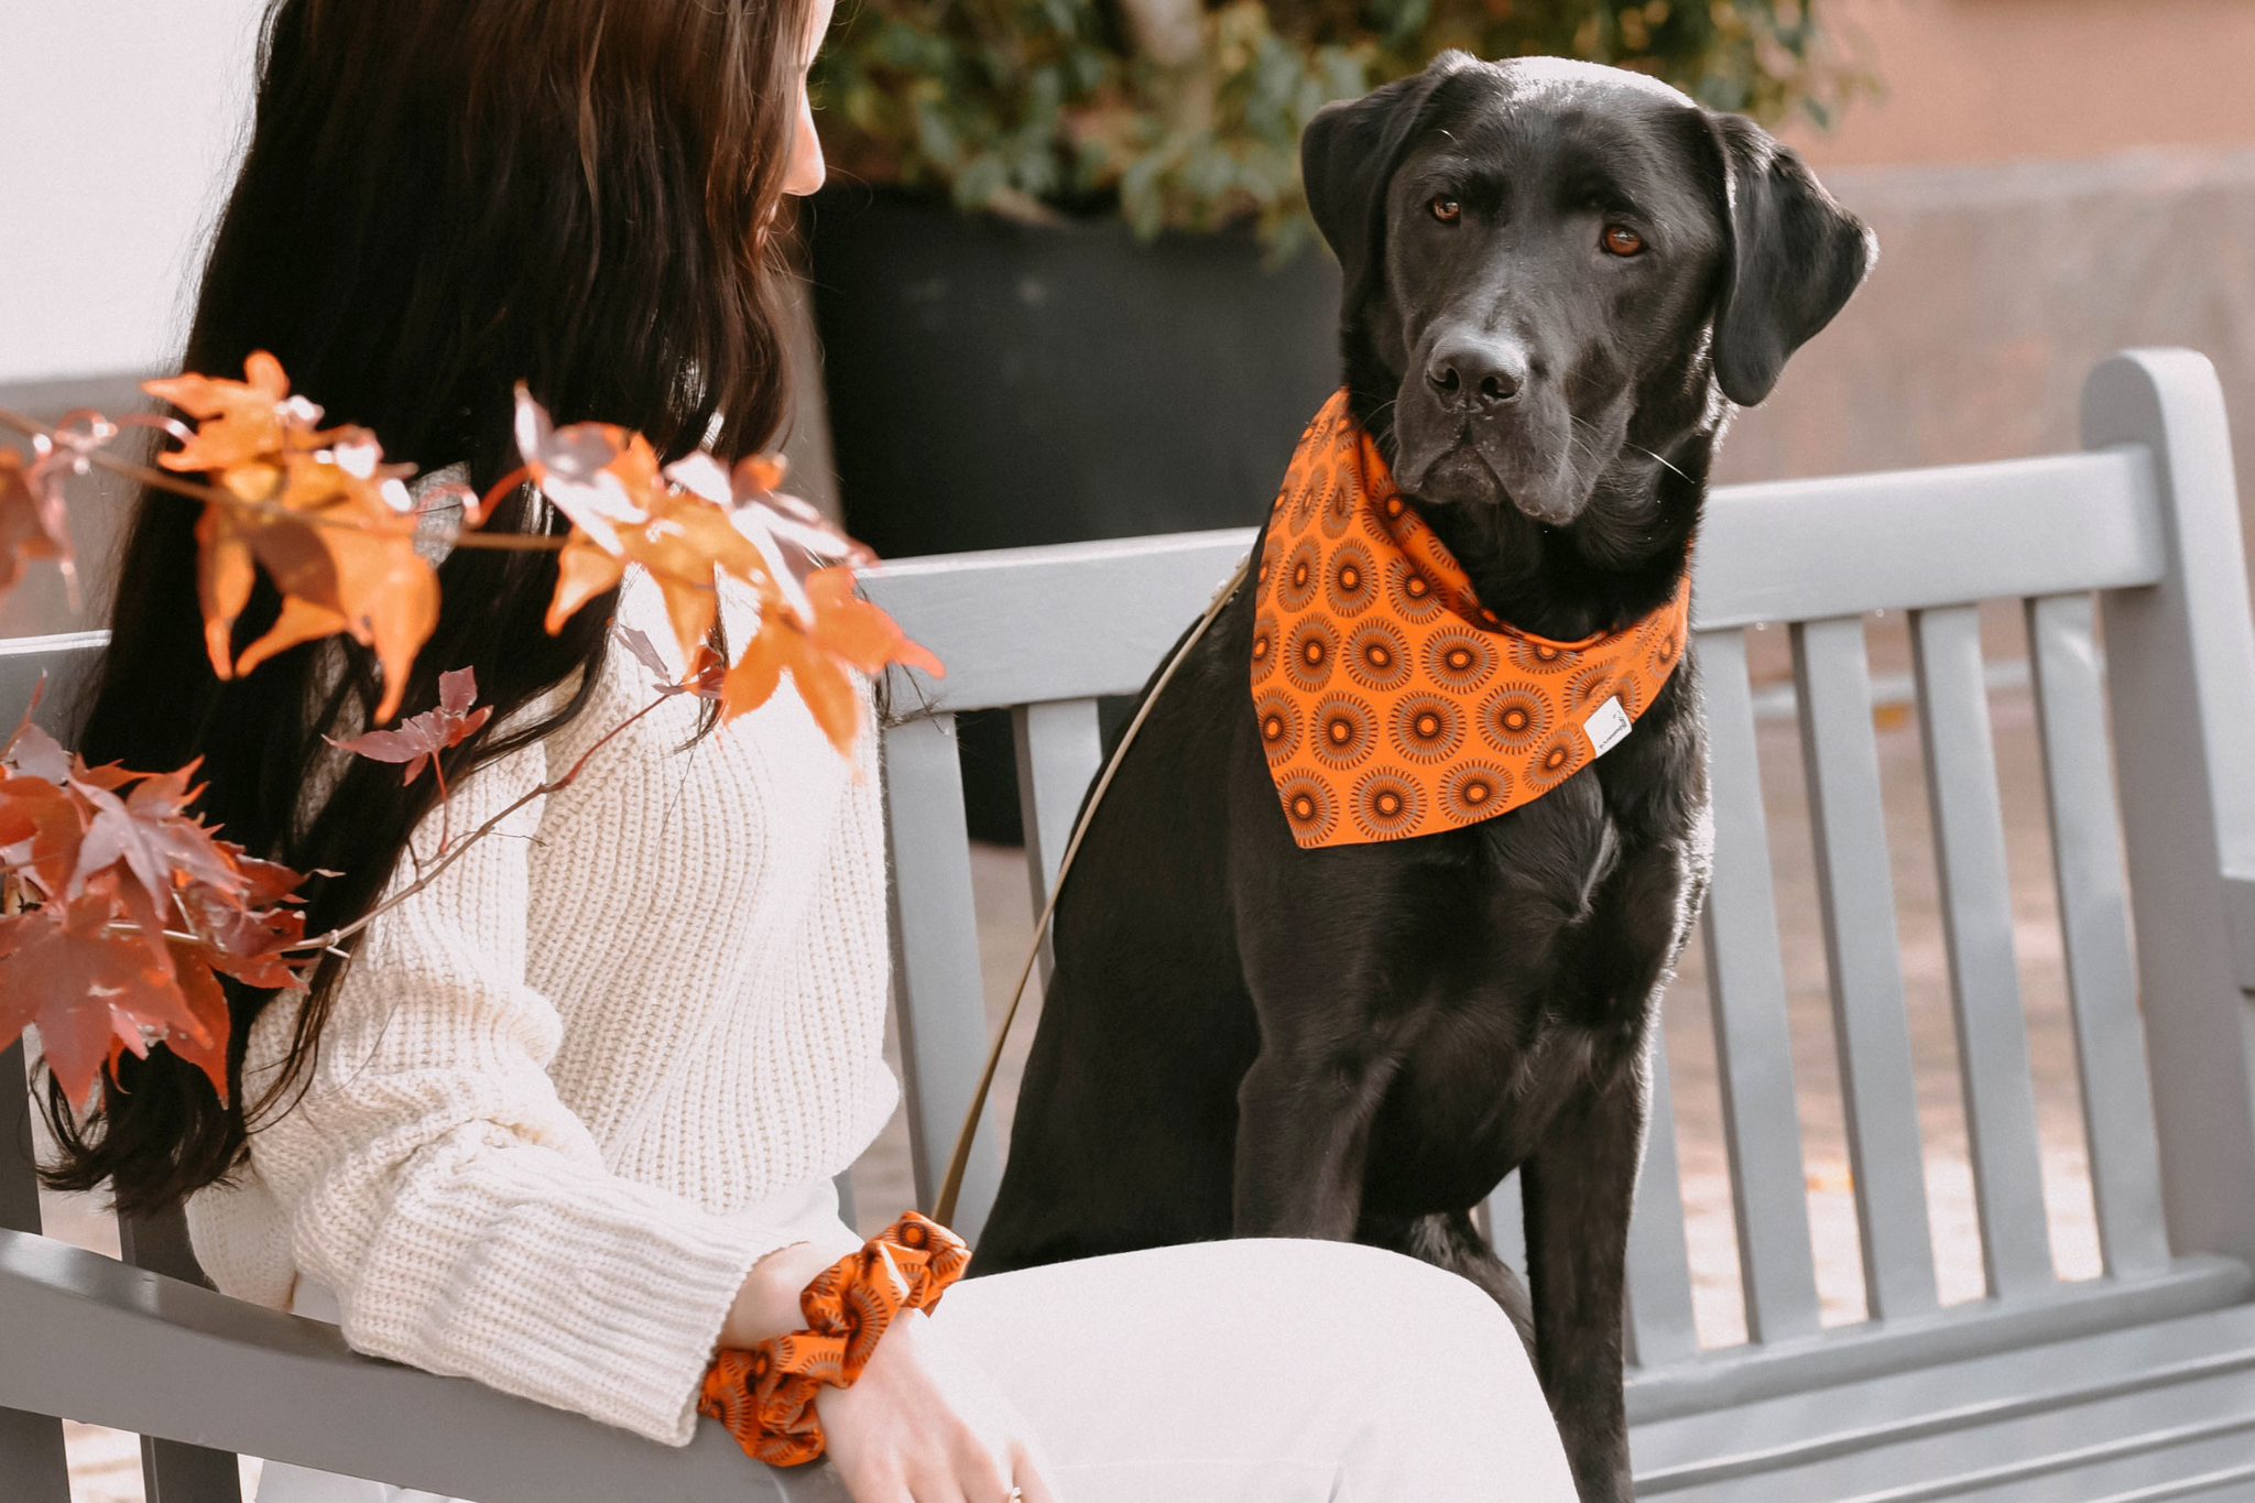
<path id="1" fill-rule="evenodd" d="M 2124 345 L 2205 352 L 2255 473 L 2255 5 L 1820 14 L 1883 92 L 1786 135 L 1878 230 L 1881 261 L 1739 419 L 1723 478 L 2070 448 L 2084 372 Z"/>

